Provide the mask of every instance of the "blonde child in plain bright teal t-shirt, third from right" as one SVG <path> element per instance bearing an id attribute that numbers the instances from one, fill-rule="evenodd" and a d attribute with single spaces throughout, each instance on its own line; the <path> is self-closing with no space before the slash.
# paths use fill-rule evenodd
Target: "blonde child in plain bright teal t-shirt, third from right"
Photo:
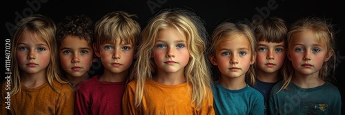
<path id="1" fill-rule="evenodd" d="M 264 114 L 264 97 L 250 87 L 256 45 L 253 30 L 244 23 L 226 21 L 213 31 L 209 60 L 217 68 L 212 86 L 216 114 Z"/>

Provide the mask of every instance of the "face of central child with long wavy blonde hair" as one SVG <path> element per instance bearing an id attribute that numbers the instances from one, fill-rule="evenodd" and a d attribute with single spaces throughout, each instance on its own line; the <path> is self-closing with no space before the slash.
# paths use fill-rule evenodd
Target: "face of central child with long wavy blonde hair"
<path id="1" fill-rule="evenodd" d="M 160 30 L 155 40 L 152 57 L 157 64 L 158 73 L 183 74 L 190 57 L 186 36 L 172 27 Z"/>

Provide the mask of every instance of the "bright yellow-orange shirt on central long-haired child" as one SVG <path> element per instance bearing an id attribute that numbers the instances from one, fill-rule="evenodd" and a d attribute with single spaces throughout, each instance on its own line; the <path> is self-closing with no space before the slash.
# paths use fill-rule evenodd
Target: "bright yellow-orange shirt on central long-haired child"
<path id="1" fill-rule="evenodd" d="M 209 99 L 203 101 L 202 107 L 196 108 L 194 103 L 190 103 L 191 85 L 166 86 L 151 79 L 146 79 L 143 99 L 135 108 L 136 83 L 130 81 L 126 88 L 122 101 L 123 114 L 215 114 L 212 92 Z"/>

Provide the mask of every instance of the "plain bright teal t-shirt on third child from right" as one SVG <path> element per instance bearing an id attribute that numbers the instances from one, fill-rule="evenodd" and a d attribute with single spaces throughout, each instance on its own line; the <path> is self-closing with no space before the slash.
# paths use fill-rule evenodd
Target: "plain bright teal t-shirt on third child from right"
<path id="1" fill-rule="evenodd" d="M 264 97 L 250 87 L 229 90 L 215 82 L 212 86 L 215 114 L 264 114 Z"/>

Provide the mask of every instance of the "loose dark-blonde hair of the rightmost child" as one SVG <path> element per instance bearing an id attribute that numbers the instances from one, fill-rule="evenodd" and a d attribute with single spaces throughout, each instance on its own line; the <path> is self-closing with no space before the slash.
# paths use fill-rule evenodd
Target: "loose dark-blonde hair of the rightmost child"
<path id="1" fill-rule="evenodd" d="M 289 48 L 290 41 L 293 39 L 293 36 L 299 33 L 302 33 L 303 31 L 313 31 L 316 39 L 319 40 L 320 44 L 326 44 L 327 47 L 327 54 L 330 51 L 334 51 L 335 49 L 335 38 L 334 33 L 332 29 L 333 25 L 330 23 L 327 23 L 326 21 L 323 21 L 322 18 L 317 17 L 307 17 L 307 18 L 301 18 L 297 20 L 293 25 L 291 25 L 290 29 L 288 30 L 288 39 L 286 42 L 286 46 Z M 335 55 L 333 56 L 333 61 L 335 60 Z M 319 72 L 319 79 L 322 79 L 324 81 L 330 81 L 327 77 L 328 75 L 328 63 L 331 63 L 331 61 L 324 62 L 322 64 L 322 68 Z M 335 68 L 335 61 L 333 64 L 333 68 Z M 333 70 L 333 73 L 335 71 Z M 293 65 L 290 61 L 286 64 L 283 70 L 284 75 L 284 85 L 280 90 L 285 90 L 288 87 L 288 84 L 290 84 L 290 81 L 295 74 L 295 68 L 293 68 Z M 279 91 L 280 91 L 279 90 Z M 279 92 L 278 91 L 278 92 Z"/>

